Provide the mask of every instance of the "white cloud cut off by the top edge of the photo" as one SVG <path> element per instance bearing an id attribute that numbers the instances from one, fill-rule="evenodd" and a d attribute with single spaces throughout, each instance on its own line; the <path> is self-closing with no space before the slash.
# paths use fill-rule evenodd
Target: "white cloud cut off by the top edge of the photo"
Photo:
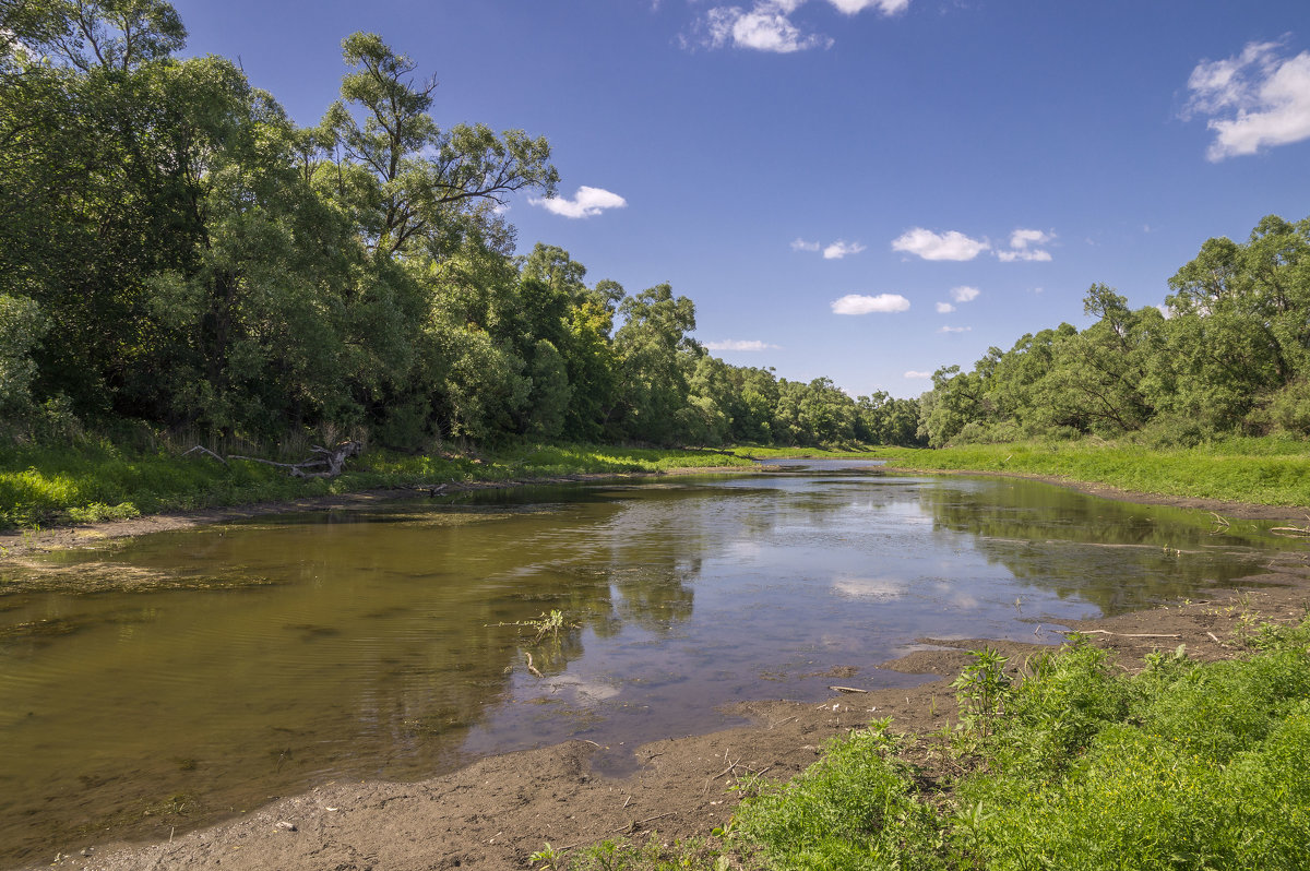
<path id="1" fill-rule="evenodd" d="M 791 54 L 807 48 L 827 48 L 831 37 L 802 30 L 791 14 L 808 0 L 753 0 L 751 7 L 714 7 L 694 25 L 696 37 L 683 37 L 684 47 L 701 45 L 709 48 L 732 46 L 755 51 Z M 910 0 L 828 0 L 846 16 L 876 9 L 895 16 L 909 8 Z"/>

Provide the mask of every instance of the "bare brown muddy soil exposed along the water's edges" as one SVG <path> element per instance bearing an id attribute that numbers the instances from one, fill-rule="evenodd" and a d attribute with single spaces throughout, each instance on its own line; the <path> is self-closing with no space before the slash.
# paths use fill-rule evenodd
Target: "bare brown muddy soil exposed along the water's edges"
<path id="1" fill-rule="evenodd" d="M 1082 489 L 1082 487 L 1079 487 Z M 1089 489 L 1099 495 L 1115 495 Z M 39 546 L 94 541 L 89 536 L 136 534 L 254 513 L 360 504 L 390 494 L 360 494 L 240 512 L 143 519 L 113 529 L 54 530 Z M 1125 494 L 1127 496 L 1127 494 Z M 1148 502 L 1149 499 L 1138 500 Z M 1233 517 L 1286 517 L 1294 510 L 1260 506 L 1196 504 Z M 131 530 L 127 530 L 130 528 Z M 63 534 L 60 534 L 63 533 Z M 43 536 L 46 533 L 42 533 Z M 28 542 L 33 545 L 33 542 Z M 1269 575 L 1250 579 L 1258 588 L 1217 592 L 1208 601 L 1183 602 L 1114 618 L 1069 623 L 1136 668 L 1151 650 L 1187 644 L 1192 656 L 1224 659 L 1242 652 L 1256 620 L 1297 622 L 1310 608 L 1310 567 L 1289 555 Z M 1272 584 L 1272 585 L 1271 585 Z M 1045 627 L 1043 638 L 1051 638 Z M 738 778 L 787 778 L 815 761 L 828 739 L 892 716 L 893 730 L 924 733 L 955 716 L 950 680 L 969 663 L 965 652 L 984 643 L 1010 656 L 1015 669 L 1041 644 L 921 639 L 924 650 L 883 668 L 921 673 L 913 689 L 838 694 L 823 705 L 760 701 L 732 709 L 753 726 L 711 735 L 675 737 L 641 747 L 639 768 L 625 778 L 591 769 L 597 748 L 586 741 L 485 758 L 466 769 L 418 783 L 330 783 L 276 800 L 258 811 L 156 843 L 77 843 L 55 846 L 26 868 L 223 868 L 224 871 L 407 871 L 419 868 L 527 868 L 528 857 L 550 842 L 555 849 L 626 836 L 645 841 L 706 836 L 736 804 Z M 858 669 L 833 673 L 833 685 L 859 686 Z"/>

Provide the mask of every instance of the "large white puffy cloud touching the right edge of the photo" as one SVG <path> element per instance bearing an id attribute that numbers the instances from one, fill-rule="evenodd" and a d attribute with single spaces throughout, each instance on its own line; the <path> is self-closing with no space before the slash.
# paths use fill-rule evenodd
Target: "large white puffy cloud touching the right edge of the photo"
<path id="1" fill-rule="evenodd" d="M 1183 118 L 1209 115 L 1212 161 L 1310 139 L 1310 51 L 1279 55 L 1277 42 L 1248 42 L 1241 55 L 1192 69 Z"/>

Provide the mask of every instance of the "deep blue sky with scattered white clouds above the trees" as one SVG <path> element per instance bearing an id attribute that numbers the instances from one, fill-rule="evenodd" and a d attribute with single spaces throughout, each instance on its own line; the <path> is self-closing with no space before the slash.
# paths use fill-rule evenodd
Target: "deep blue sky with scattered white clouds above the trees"
<path id="1" fill-rule="evenodd" d="M 1210 236 L 1310 215 L 1306 0 L 174 0 L 303 124 L 341 38 L 435 75 L 439 124 L 545 135 L 521 196 L 734 364 L 918 396 L 941 365 L 1134 306 Z"/>

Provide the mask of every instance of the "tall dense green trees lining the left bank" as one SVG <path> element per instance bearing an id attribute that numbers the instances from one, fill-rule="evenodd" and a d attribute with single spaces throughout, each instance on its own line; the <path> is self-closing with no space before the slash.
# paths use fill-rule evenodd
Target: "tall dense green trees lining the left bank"
<path id="1" fill-rule="evenodd" d="M 0 427 L 200 437 L 365 431 L 655 444 L 917 440 L 852 399 L 706 354 L 692 300 L 515 257 L 500 208 L 550 195 L 545 139 L 441 128 L 434 80 L 342 42 L 296 127 L 224 58 L 174 56 L 162 0 L 0 7 Z"/>

